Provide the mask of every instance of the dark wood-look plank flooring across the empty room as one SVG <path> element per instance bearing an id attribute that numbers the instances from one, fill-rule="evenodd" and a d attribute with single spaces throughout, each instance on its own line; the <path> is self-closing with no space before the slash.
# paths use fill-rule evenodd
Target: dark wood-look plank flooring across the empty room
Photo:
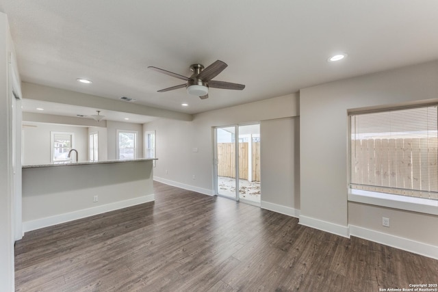
<path id="1" fill-rule="evenodd" d="M 155 202 L 34 230 L 16 291 L 379 291 L 437 283 L 438 261 L 154 183 Z"/>

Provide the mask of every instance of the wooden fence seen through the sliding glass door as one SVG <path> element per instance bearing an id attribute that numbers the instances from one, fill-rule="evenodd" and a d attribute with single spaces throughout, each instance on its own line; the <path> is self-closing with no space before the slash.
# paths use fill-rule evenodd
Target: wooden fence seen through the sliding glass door
<path id="1" fill-rule="evenodd" d="M 248 157 L 248 145 L 248 142 L 239 143 L 239 178 L 248 179 L 248 159 L 251 159 L 252 181 L 260 181 L 260 142 L 253 142 L 252 157 Z M 218 143 L 218 176 L 235 178 L 234 143 Z"/>

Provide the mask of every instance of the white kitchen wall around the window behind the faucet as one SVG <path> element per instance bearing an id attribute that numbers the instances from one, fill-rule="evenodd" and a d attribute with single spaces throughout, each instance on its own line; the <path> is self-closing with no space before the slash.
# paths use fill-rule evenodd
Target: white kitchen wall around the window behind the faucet
<path id="1" fill-rule="evenodd" d="M 79 161 L 88 161 L 88 129 L 64 124 L 23 122 L 23 165 L 50 164 L 51 131 L 75 134 Z M 75 159 L 75 154 L 73 154 Z"/>

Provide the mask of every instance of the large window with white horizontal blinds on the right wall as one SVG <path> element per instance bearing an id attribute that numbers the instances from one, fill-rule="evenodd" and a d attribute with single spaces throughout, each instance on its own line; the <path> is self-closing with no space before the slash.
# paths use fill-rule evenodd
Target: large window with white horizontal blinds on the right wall
<path id="1" fill-rule="evenodd" d="M 350 188 L 438 200 L 437 105 L 350 114 Z"/>

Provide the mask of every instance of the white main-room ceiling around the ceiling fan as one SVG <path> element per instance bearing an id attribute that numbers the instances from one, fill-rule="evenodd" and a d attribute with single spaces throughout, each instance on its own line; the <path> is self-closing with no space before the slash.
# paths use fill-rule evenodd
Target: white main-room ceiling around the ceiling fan
<path id="1" fill-rule="evenodd" d="M 436 0 L 0 0 L 0 11 L 23 81 L 188 114 L 438 59 Z M 216 59 L 229 66 L 214 80 L 243 91 L 158 93 L 184 81 L 147 69 L 190 76 Z"/>

